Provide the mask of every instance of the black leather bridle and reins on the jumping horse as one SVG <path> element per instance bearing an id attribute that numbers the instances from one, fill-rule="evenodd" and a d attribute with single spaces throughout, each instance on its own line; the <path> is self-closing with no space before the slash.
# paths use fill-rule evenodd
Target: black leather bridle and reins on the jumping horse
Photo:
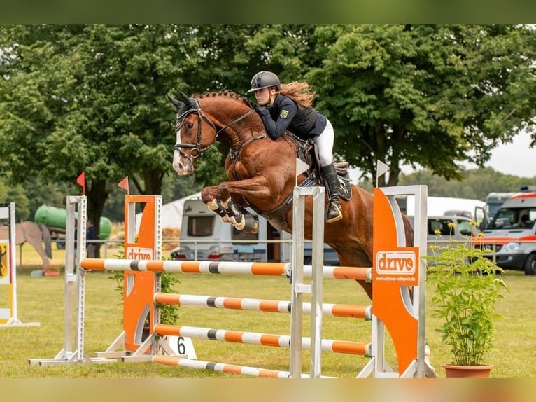
<path id="1" fill-rule="evenodd" d="M 175 144 L 173 149 L 174 149 L 174 151 L 178 151 L 184 158 L 190 160 L 190 162 L 192 162 L 192 163 L 194 162 L 194 159 L 202 157 L 202 155 L 206 152 L 206 150 L 209 149 L 212 146 L 212 144 L 214 144 L 216 142 L 216 139 L 218 138 L 218 135 L 220 134 L 220 132 L 223 132 L 223 130 L 225 130 L 226 128 L 230 127 L 231 125 L 234 125 L 235 123 L 238 123 L 239 121 L 244 120 L 244 118 L 250 116 L 252 113 L 255 113 L 255 110 L 251 109 L 250 111 L 247 111 L 244 115 L 240 116 L 239 118 L 236 118 L 236 119 L 232 120 L 231 123 L 225 125 L 225 127 L 221 127 L 220 130 L 218 130 L 218 128 L 212 122 L 212 120 L 210 118 L 208 118 L 203 113 L 203 111 L 201 110 L 201 106 L 199 105 L 199 102 L 197 101 L 197 99 L 191 98 L 191 100 L 193 102 L 195 102 L 195 107 L 183 112 L 180 115 L 177 115 L 177 123 L 175 125 L 175 132 L 178 132 L 179 130 L 181 130 L 181 127 L 183 126 L 183 124 L 185 122 L 185 119 L 186 119 L 186 117 L 188 115 L 190 115 L 192 113 L 196 113 L 197 114 L 197 142 L 195 144 L 184 144 L 184 143 Z M 211 127 L 216 132 L 212 142 L 209 145 L 204 146 L 204 147 L 201 146 L 201 140 L 202 140 L 202 137 L 201 137 L 202 136 L 201 123 L 202 123 L 202 120 L 205 120 L 206 123 L 209 123 L 209 125 L 211 125 Z M 191 149 L 192 151 L 190 151 L 190 154 L 188 154 L 188 153 L 185 153 L 182 150 L 182 148 Z"/>

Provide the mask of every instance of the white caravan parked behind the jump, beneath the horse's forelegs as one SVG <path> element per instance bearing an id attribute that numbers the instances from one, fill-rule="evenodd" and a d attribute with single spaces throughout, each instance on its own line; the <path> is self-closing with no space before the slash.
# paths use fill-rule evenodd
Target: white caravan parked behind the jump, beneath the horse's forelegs
<path id="1" fill-rule="evenodd" d="M 199 195 L 184 201 L 181 244 L 171 250 L 174 260 L 288 262 L 292 235 L 271 226 L 248 209 L 259 221 L 259 233 L 237 230 L 225 223 L 202 202 Z M 312 243 L 305 242 L 304 264 L 311 265 Z M 339 265 L 335 251 L 324 244 L 324 265 Z"/>

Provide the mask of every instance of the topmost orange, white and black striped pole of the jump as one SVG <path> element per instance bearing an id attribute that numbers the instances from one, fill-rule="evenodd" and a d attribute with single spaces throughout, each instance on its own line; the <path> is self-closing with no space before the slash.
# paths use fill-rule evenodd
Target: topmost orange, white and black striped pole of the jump
<path id="1" fill-rule="evenodd" d="M 290 277 L 290 263 L 253 263 L 244 261 L 175 261 L 175 260 L 123 260 L 84 258 L 80 266 L 93 271 L 147 271 L 177 272 L 184 274 L 269 275 Z M 311 265 L 304 266 L 304 275 L 311 277 Z M 325 279 L 372 280 L 372 268 L 323 267 Z"/>

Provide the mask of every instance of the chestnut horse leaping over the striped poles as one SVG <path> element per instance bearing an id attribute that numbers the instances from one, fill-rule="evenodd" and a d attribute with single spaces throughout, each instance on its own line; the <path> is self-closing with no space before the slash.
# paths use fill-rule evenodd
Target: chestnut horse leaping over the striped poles
<path id="1" fill-rule="evenodd" d="M 254 223 L 239 214 L 246 212 L 244 207 L 251 207 L 275 228 L 292 233 L 292 192 L 299 144 L 286 135 L 276 140 L 268 137 L 248 99 L 233 92 L 193 97 L 181 92 L 181 100 L 169 99 L 177 109 L 173 167 L 179 175 L 194 172 L 197 160 L 216 141 L 230 148 L 225 160 L 229 181 L 204 188 L 202 201 L 241 230 L 255 230 Z M 306 179 L 302 173 L 297 183 Z M 309 240 L 313 218 L 310 198 L 306 197 L 304 225 Z M 341 265 L 372 267 L 373 195 L 352 184 L 351 199 L 341 200 L 341 207 L 343 219 L 325 223 L 324 242 L 337 252 Z M 411 246 L 413 228 L 406 216 L 404 228 L 406 245 Z M 372 299 L 372 284 L 358 282 Z"/>

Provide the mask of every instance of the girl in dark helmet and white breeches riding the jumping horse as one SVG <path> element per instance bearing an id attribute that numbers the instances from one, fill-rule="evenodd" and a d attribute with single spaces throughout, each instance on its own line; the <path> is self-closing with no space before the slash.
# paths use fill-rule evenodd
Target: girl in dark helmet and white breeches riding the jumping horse
<path id="1" fill-rule="evenodd" d="M 260 71 L 251 79 L 249 92 L 255 92 L 258 105 L 253 107 L 260 114 L 271 139 L 278 139 L 287 129 L 304 140 L 313 139 L 330 197 L 325 221 L 330 223 L 342 219 L 339 179 L 332 155 L 334 130 L 330 120 L 313 109 L 314 92 L 311 92 L 309 84 L 292 82 L 281 85 L 276 74 Z"/>

